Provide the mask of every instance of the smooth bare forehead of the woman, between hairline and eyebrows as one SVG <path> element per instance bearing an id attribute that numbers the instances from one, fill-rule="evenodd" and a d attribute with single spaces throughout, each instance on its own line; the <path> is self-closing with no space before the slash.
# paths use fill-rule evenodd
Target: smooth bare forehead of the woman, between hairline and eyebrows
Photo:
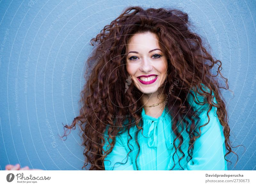
<path id="1" fill-rule="evenodd" d="M 135 33 L 127 44 L 128 50 L 139 50 L 139 49 L 152 49 L 152 47 L 158 47 L 159 42 L 157 35 L 152 32 L 147 33 Z"/>

